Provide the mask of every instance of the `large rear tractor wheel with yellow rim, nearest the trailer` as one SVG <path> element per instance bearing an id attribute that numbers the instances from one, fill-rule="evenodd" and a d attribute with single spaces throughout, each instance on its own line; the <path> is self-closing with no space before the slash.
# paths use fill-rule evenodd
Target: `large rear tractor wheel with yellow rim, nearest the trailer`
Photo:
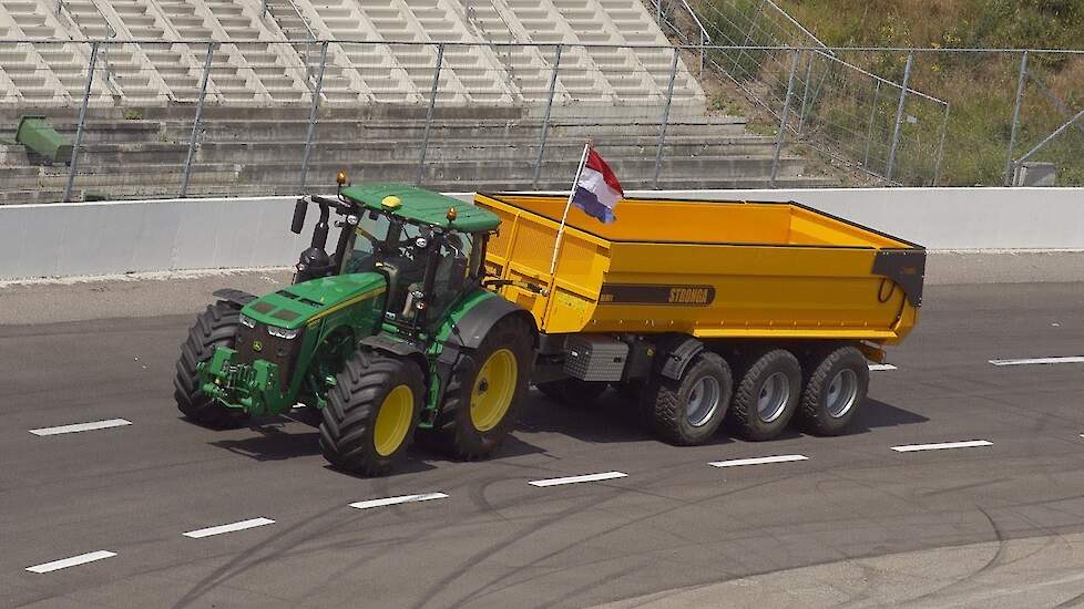
<path id="1" fill-rule="evenodd" d="M 532 342 L 524 320 L 505 317 L 477 350 L 460 357 L 430 432 L 433 444 L 464 461 L 484 458 L 500 447 L 526 398 Z"/>

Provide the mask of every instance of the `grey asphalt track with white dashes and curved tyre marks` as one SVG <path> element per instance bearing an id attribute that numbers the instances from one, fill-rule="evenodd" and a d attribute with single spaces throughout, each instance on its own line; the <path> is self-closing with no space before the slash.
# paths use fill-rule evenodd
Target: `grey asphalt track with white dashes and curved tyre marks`
<path id="1" fill-rule="evenodd" d="M 929 288 L 847 436 L 679 448 L 616 395 L 532 392 L 495 458 L 417 451 L 378 479 L 298 422 L 181 420 L 190 320 L 0 326 L 0 606 L 1084 603 L 1084 363 L 990 363 L 1084 355 L 1081 283 Z M 708 465 L 779 455 L 807 458 Z M 378 500 L 419 494 L 447 496 Z"/>

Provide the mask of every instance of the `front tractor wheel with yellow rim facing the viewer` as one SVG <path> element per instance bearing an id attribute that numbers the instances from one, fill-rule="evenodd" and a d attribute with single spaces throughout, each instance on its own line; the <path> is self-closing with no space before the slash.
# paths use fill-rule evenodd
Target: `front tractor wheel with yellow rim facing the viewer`
<path id="1" fill-rule="evenodd" d="M 359 350 L 335 380 L 320 423 L 324 458 L 351 474 L 389 474 L 418 427 L 421 370 L 405 358 Z"/>

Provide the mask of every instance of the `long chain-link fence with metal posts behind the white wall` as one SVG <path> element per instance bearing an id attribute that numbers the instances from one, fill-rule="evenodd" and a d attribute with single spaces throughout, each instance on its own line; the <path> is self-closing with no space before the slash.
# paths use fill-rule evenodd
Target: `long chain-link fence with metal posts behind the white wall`
<path id="1" fill-rule="evenodd" d="M 664 3 L 678 47 L 0 41 L 0 203 L 567 189 L 585 141 L 630 189 L 1084 184 L 1084 53 L 829 49 L 758 4 Z"/>

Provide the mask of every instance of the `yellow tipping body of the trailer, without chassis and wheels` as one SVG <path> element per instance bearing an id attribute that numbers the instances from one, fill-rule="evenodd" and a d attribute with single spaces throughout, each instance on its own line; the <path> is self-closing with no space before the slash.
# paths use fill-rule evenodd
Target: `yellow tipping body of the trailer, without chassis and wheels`
<path id="1" fill-rule="evenodd" d="M 474 202 L 501 217 L 489 273 L 544 333 L 880 345 L 918 321 L 921 246 L 798 203 L 628 198 L 609 225 L 573 206 L 551 275 L 564 196 Z"/>

